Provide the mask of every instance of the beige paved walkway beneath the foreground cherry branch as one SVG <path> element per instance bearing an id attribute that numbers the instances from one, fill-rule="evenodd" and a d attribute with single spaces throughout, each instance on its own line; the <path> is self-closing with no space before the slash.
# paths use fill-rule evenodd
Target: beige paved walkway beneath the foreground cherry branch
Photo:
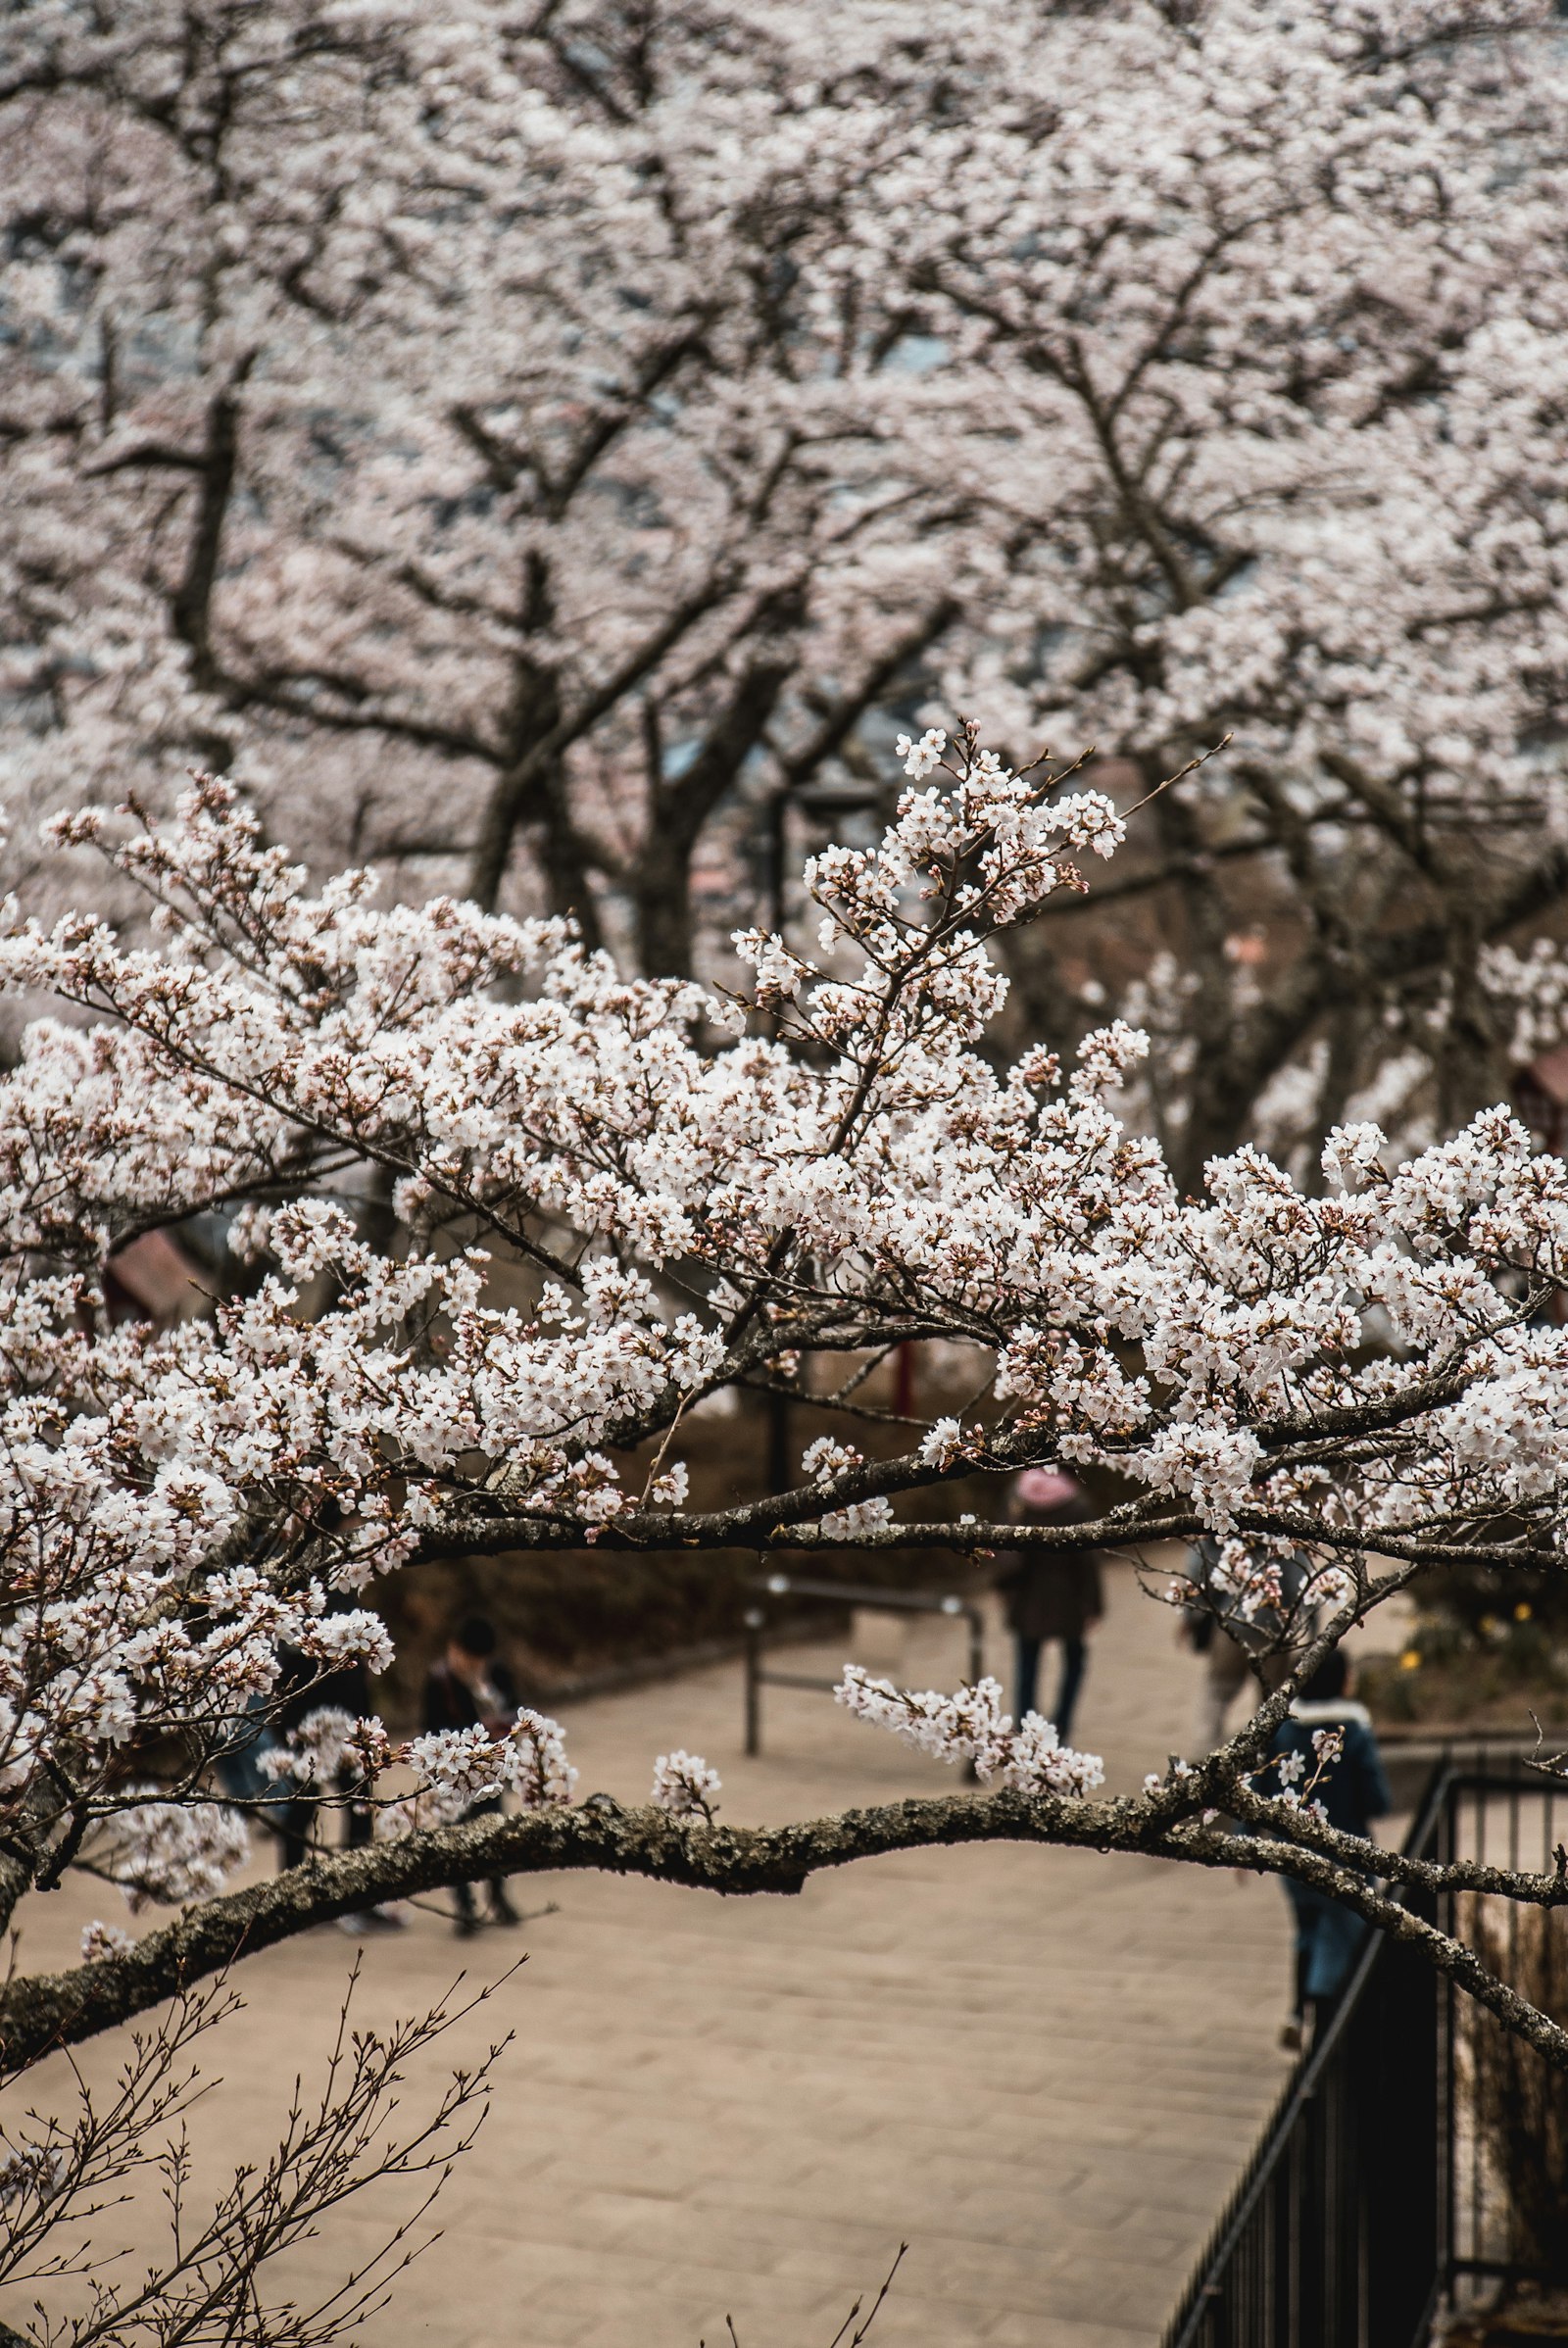
<path id="1" fill-rule="evenodd" d="M 958 1625 L 864 1632 L 878 1669 L 962 1676 Z M 1080 1719 L 1113 1784 L 1188 1745 L 1192 1674 L 1171 1615 L 1115 1571 Z M 641 1799 L 653 1754 L 685 1745 L 737 1822 L 951 1782 L 786 1691 L 746 1761 L 737 1665 L 566 1723 L 584 1789 Z M 728 2348 L 725 2315 L 739 2348 L 829 2348 L 901 2240 L 873 2348 L 1153 2348 L 1284 2073 L 1286 1914 L 1253 1878 L 998 1846 L 878 1860 L 798 1900 L 584 1876 L 523 1892 L 559 1914 L 462 1951 L 418 1914 L 366 1951 L 364 2012 L 390 2019 L 460 1961 L 474 1977 L 528 1949 L 498 1998 L 516 2045 L 495 2111 L 373 2348 Z M 75 1939 L 85 1902 L 63 1892 L 47 1937 Z M 347 1956 L 324 1930 L 242 1968 L 202 2160 L 263 2146 Z M 340 2217 L 300 2282 L 373 2233 L 373 2212 Z"/>

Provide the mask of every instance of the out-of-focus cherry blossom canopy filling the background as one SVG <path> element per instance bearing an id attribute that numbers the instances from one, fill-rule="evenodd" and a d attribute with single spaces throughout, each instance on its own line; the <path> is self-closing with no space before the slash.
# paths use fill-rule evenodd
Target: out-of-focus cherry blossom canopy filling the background
<path id="1" fill-rule="evenodd" d="M 1150 1031 L 1183 1190 L 1432 1139 L 1568 993 L 1566 103 L 1479 0 L 38 5 L 16 789 L 195 758 L 688 977 L 890 709 L 1230 733 L 1009 1033 Z"/>

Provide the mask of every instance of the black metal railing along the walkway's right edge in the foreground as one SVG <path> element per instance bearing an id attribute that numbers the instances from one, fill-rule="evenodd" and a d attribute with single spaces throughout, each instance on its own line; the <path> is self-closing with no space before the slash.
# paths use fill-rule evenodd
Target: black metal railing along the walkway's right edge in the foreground
<path id="1" fill-rule="evenodd" d="M 1519 1759 L 1451 1754 L 1404 1850 L 1547 1871 L 1561 1808 L 1563 1796 Z M 1444 1895 L 1441 1914 L 1422 1895 L 1406 1900 L 1479 1944 L 1526 1996 L 1540 1993 L 1526 1975 L 1540 1972 L 1552 1918 L 1521 1921 L 1512 1904 L 1472 1897 Z M 1554 2092 L 1540 2057 L 1418 1949 L 1368 1935 L 1282 2090 L 1164 2348 L 1425 2348 L 1439 2306 L 1542 2273 L 1540 2224 L 1552 2219 L 1537 2224 L 1521 2179 L 1542 2167 L 1530 2111 L 1549 2111 Z M 1500 2113 L 1512 2116 L 1514 2141 L 1500 2141 Z"/>

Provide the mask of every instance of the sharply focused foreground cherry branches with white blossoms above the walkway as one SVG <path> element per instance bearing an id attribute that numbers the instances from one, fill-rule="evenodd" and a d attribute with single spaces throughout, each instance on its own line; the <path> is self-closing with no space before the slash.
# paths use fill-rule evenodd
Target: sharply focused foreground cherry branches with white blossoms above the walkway
<path id="1" fill-rule="evenodd" d="M 66 1869 L 117 1883 L 134 1916 L 181 1914 L 138 1937 L 106 1918 L 73 1972 L 12 1975 L 12 2073 L 432 1885 L 596 1867 L 791 1892 L 976 1838 L 1314 1883 L 1568 2069 L 1568 2033 L 1406 1897 L 1561 1907 L 1561 1857 L 1537 1876 L 1376 1853 L 1310 1787 L 1258 1777 L 1298 1674 L 1425 1564 L 1561 1571 L 1568 1331 L 1545 1305 L 1568 1273 L 1568 1169 L 1495 1108 L 1406 1160 L 1338 1127 L 1322 1195 L 1242 1148 L 1183 1200 L 1115 1113 L 1134 1031 L 1066 1066 L 981 1050 L 998 942 L 1084 888 L 1122 817 L 1073 768 L 1014 772 L 972 733 L 904 756 L 883 843 L 807 864 L 815 956 L 737 937 L 744 996 L 624 977 L 559 918 L 387 906 L 369 871 L 312 890 L 214 780 L 169 826 L 61 819 L 150 923 L 122 939 L 12 906 L 0 946 L 5 986 L 70 1010 L 31 1026 L 0 1115 L 0 1881 L 7 1916 Z M 364 1237 L 369 1176 L 394 1183 L 394 1247 Z M 197 1209 L 232 1219 L 254 1289 L 162 1334 L 106 1324 L 106 1251 Z M 798 1484 L 688 1500 L 683 1430 L 711 1397 L 756 1374 L 789 1390 L 803 1350 L 854 1371 L 934 1338 L 976 1364 L 960 1413 L 876 1460 L 845 1418 Z M 1124 1496 L 1089 1533 L 1009 1543 L 1145 1554 L 1207 1531 L 1214 1604 L 1265 1622 L 1282 1561 L 1307 1564 L 1277 1693 L 1141 1796 L 1103 1799 L 1099 1761 L 1012 1721 L 993 1681 L 941 1695 L 850 1667 L 852 1712 L 972 1761 L 981 1792 L 770 1831 L 728 1827 L 690 1752 L 650 1756 L 650 1803 L 624 1810 L 575 1799 L 538 1712 L 394 1745 L 322 1707 L 277 1747 L 279 1787 L 331 1808 L 347 1784 L 380 1831 L 228 1888 L 246 1803 L 216 1796 L 216 1761 L 300 1672 L 385 1665 L 366 1599 L 397 1564 L 671 1543 L 962 1557 L 1000 1524 L 930 1522 L 920 1493 L 1045 1458 Z M 465 1822 L 498 1792 L 509 1815 Z"/>

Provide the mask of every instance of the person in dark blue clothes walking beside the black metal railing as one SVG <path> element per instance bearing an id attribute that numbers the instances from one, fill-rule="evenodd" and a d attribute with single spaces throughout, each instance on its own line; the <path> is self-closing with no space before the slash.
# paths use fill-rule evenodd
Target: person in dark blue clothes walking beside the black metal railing
<path id="1" fill-rule="evenodd" d="M 1345 1738 L 1338 1761 L 1319 1773 L 1314 1735 L 1322 1728 L 1338 1728 Z M 1300 1695 L 1275 1730 L 1270 1766 L 1258 1777 L 1258 1792 L 1277 1794 L 1284 1784 L 1305 1792 L 1322 1803 L 1329 1824 L 1340 1834 L 1371 1838 L 1373 1817 L 1387 1817 L 1390 1792 L 1383 1775 L 1383 1756 L 1364 1705 L 1350 1700 L 1350 1658 L 1333 1648 L 1307 1676 Z M 1284 1761 L 1284 1768 L 1279 1763 Z M 1366 1923 L 1354 1909 L 1340 1907 L 1326 1892 L 1307 1883 L 1284 1878 L 1284 1888 L 1296 1911 L 1296 2005 L 1286 2022 L 1282 2045 L 1300 2047 L 1310 2036 L 1307 2022 L 1317 2022 L 1338 1998 L 1350 1979 Z"/>

